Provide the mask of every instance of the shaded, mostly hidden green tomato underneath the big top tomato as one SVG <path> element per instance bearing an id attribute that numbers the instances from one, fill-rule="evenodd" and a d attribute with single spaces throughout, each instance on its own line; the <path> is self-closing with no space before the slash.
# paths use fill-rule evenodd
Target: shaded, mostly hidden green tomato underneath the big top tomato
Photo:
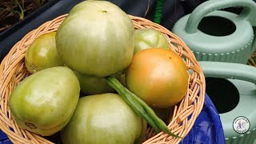
<path id="1" fill-rule="evenodd" d="M 106 82 L 105 78 L 97 77 L 94 75 L 80 74 L 76 71 L 74 71 L 74 74 L 76 74 L 78 77 L 83 94 L 91 95 L 115 92 L 115 90 Z M 118 81 L 121 82 L 123 86 L 125 86 L 125 76 L 122 71 L 118 72 L 117 74 L 111 74 L 111 76 L 117 78 Z"/>

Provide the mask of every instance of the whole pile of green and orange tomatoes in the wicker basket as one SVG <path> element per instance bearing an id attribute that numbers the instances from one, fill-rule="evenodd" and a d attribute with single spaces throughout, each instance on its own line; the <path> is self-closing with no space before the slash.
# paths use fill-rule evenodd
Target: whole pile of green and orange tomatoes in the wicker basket
<path id="1" fill-rule="evenodd" d="M 63 143 L 141 143 L 148 121 L 121 93 L 129 90 L 146 108 L 168 109 L 188 89 L 186 64 L 168 38 L 135 30 L 106 1 L 74 6 L 56 32 L 34 39 L 25 64 L 30 76 L 10 95 L 14 121 L 42 136 L 60 131 Z"/>

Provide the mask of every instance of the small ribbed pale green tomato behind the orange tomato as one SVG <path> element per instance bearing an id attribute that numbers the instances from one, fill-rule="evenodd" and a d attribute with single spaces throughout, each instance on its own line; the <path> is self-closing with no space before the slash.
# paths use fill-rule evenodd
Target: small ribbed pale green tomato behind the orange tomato
<path id="1" fill-rule="evenodd" d="M 148 48 L 170 49 L 166 37 L 158 30 L 150 28 L 138 29 L 135 30 L 134 37 L 134 54 Z"/>

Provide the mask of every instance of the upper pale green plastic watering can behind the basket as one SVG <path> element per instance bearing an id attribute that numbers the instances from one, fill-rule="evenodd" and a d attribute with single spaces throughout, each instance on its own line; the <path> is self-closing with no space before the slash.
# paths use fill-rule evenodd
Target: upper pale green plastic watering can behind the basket
<path id="1" fill-rule="evenodd" d="M 242 7 L 240 14 L 226 8 Z M 256 49 L 256 2 L 209 0 L 174 24 L 173 33 L 186 43 L 198 61 L 246 63 Z"/>

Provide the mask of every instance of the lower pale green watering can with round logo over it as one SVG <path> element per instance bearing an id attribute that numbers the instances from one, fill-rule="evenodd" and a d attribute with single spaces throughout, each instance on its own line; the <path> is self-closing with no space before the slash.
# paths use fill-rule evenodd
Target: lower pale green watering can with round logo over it
<path id="1" fill-rule="evenodd" d="M 221 118 L 226 144 L 256 141 L 256 67 L 230 62 L 199 62 Z M 220 80 L 221 79 L 221 80 Z"/>

